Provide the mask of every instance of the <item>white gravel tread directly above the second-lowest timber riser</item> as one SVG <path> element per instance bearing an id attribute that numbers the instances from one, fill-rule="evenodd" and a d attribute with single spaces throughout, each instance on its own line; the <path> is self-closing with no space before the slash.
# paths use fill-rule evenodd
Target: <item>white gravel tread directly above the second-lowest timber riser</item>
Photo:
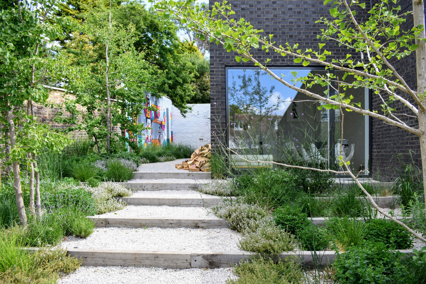
<path id="1" fill-rule="evenodd" d="M 96 217 L 159 217 L 159 218 L 217 218 L 204 207 L 176 207 L 176 206 L 138 206 L 128 205 L 123 210 L 108 212 Z"/>

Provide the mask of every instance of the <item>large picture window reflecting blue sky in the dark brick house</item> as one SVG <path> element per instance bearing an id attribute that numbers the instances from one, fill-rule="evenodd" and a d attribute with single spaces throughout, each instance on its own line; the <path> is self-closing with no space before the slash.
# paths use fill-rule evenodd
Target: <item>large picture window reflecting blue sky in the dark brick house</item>
<path id="1" fill-rule="evenodd" d="M 281 68 L 273 70 L 286 81 L 309 73 L 327 76 L 329 70 Z M 354 77 L 335 72 L 346 83 Z M 321 108 L 322 102 L 285 87 L 265 71 L 227 68 L 228 146 L 242 154 L 269 155 L 276 162 L 331 166 L 342 155 L 354 171 L 368 168 L 368 116 Z M 297 87 L 331 96 L 330 87 L 293 80 Z M 345 95 L 369 108 L 368 90 L 348 88 Z M 342 124 L 343 120 L 343 124 Z M 343 131 L 343 139 L 342 139 Z"/>

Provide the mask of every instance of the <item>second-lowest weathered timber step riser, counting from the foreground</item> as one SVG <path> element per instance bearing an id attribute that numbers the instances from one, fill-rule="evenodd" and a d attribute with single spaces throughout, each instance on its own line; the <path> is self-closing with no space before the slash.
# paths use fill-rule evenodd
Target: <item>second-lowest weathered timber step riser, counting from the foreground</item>
<path id="1" fill-rule="evenodd" d="M 193 229 L 219 229 L 229 228 L 226 220 L 218 218 L 158 218 L 158 217 L 89 217 L 96 227 L 125 227 L 125 228 L 193 228 Z"/>

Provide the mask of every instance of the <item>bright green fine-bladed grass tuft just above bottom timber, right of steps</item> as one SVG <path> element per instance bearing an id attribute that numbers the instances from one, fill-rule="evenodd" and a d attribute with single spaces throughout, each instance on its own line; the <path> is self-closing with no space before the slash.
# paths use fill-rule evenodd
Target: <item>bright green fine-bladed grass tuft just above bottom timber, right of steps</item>
<path id="1" fill-rule="evenodd" d="M 326 226 L 328 235 L 339 249 L 360 246 L 368 233 L 362 222 L 348 217 L 331 218 Z"/>

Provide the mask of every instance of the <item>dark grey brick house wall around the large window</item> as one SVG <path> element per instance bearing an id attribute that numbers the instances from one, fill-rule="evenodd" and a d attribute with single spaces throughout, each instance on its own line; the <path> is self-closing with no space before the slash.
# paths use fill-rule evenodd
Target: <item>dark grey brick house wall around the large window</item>
<path id="1" fill-rule="evenodd" d="M 215 0 L 210 0 L 210 6 Z M 411 9 L 411 1 L 399 1 L 403 10 Z M 232 9 L 236 12 L 233 15 L 236 19 L 243 17 L 249 21 L 256 29 L 263 29 L 265 34 L 273 34 L 273 41 L 277 44 L 288 42 L 299 43 L 302 50 L 312 46 L 318 46 L 317 34 L 320 33 L 322 26 L 315 23 L 320 17 L 330 17 L 330 5 L 323 5 L 323 0 L 285 0 L 285 1 L 266 1 L 266 0 L 239 0 L 230 1 Z M 370 1 L 366 1 L 367 9 L 358 11 L 360 18 L 367 17 L 366 12 Z M 411 21 L 411 22 L 410 22 Z M 407 25 L 412 23 L 412 19 L 407 20 Z M 327 50 L 332 52 L 336 59 L 345 58 L 347 49 L 340 47 L 334 42 L 327 43 Z M 282 57 L 276 53 L 267 53 L 262 49 L 252 50 L 252 54 L 260 62 L 270 58 L 268 67 L 301 67 L 301 64 L 295 64 L 292 58 Z M 226 101 L 226 72 L 230 67 L 249 67 L 252 63 L 238 63 L 235 61 L 235 55 L 232 52 L 226 52 L 222 46 L 212 42 L 210 44 L 210 97 L 211 97 L 211 140 L 214 144 L 219 144 L 218 139 L 226 136 L 218 136 L 217 133 L 227 131 L 227 101 Z M 353 55 L 357 58 L 359 55 Z M 396 62 L 396 67 L 407 78 L 408 83 L 413 86 L 416 75 L 413 70 L 415 66 L 414 53 L 403 60 Z M 314 65 L 309 65 L 314 67 Z M 378 99 L 371 101 L 373 110 L 380 110 Z M 414 119 L 409 119 L 414 123 Z M 370 120 L 370 148 L 369 168 L 372 177 L 380 174 L 380 179 L 391 178 L 394 169 L 400 165 L 397 159 L 391 159 L 394 155 L 402 153 L 408 156 L 410 150 L 414 151 L 414 158 L 420 163 L 420 149 L 417 137 L 400 130 L 391 125 L 377 120 Z M 213 133 L 215 131 L 215 133 Z M 225 138 L 223 138 L 225 139 Z M 225 142 L 222 140 L 222 142 Z"/>

